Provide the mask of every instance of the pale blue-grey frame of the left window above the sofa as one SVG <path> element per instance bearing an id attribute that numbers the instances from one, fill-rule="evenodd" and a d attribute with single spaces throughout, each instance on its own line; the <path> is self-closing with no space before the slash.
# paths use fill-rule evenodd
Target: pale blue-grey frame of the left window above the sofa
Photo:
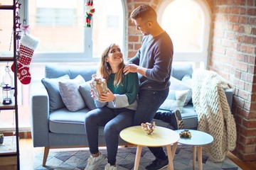
<path id="1" fill-rule="evenodd" d="M 86 3 L 86 0 L 83 0 L 84 4 Z M 20 22 L 26 21 L 29 25 L 28 21 L 28 0 L 20 0 L 21 8 L 19 9 L 19 16 L 20 16 Z M 124 26 L 124 37 L 123 37 L 123 47 L 122 51 L 124 54 L 127 54 L 127 29 L 126 26 L 126 2 L 122 0 L 122 9 L 124 11 L 124 19 L 123 19 L 123 26 Z M 84 6 L 85 10 L 85 6 Z M 34 52 L 33 54 L 33 62 L 99 62 L 99 57 L 93 57 L 92 56 L 92 28 L 84 28 L 83 29 L 83 35 L 86 37 L 83 39 L 83 51 L 82 52 Z M 71 57 L 70 57 L 71 56 Z M 124 55 L 127 56 L 127 55 Z"/>

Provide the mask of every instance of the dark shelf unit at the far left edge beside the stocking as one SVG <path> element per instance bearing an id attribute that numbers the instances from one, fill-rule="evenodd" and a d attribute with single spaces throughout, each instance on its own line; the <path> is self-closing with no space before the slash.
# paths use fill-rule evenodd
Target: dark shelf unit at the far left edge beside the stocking
<path id="1" fill-rule="evenodd" d="M 12 10 L 13 11 L 13 38 L 12 38 L 12 45 L 14 47 L 14 55 L 13 57 L 0 57 L 0 62 L 14 62 L 14 101 L 11 105 L 3 105 L 0 103 L 0 111 L 3 110 L 14 110 L 15 111 L 15 136 L 5 136 L 4 137 L 4 145 L 0 145 L 0 169 L 20 169 L 20 159 L 19 159 L 19 137 L 18 137 L 18 78 L 17 78 L 17 43 L 18 40 L 16 39 L 16 34 L 18 33 L 18 28 L 16 27 L 17 21 L 17 3 L 18 0 L 13 0 L 13 5 L 0 5 L 0 10 Z M 2 91 L 2 87 L 1 87 Z M 2 101 L 1 101 L 2 102 Z M 1 129 L 0 129 L 1 132 Z M 8 148 L 6 149 L 6 145 L 10 142 L 12 143 L 11 150 Z"/>

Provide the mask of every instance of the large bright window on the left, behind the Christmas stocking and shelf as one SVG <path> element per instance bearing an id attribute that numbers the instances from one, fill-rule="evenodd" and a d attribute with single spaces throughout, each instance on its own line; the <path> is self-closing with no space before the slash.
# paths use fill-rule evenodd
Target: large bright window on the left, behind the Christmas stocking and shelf
<path id="1" fill-rule="evenodd" d="M 20 23 L 23 21 L 28 24 L 29 33 L 40 40 L 30 66 L 33 79 L 43 77 L 44 62 L 97 62 L 103 49 L 112 42 L 119 44 L 123 53 L 127 52 L 127 49 L 124 49 L 124 42 L 127 40 L 124 33 L 123 1 L 94 1 L 92 28 L 84 27 L 84 14 L 87 10 L 85 0 L 18 2 L 21 3 L 18 11 Z M 12 1 L 1 0 L 1 3 L 11 5 Z M 0 11 L 0 56 L 12 56 L 12 14 L 12 11 Z M 0 77 L 5 64 L 0 64 Z M 10 66 L 11 64 L 9 63 Z M 30 127 L 28 91 L 29 86 L 18 84 L 20 130 Z M 0 129 L 13 129 L 12 120 L 13 113 L 1 111 Z"/>

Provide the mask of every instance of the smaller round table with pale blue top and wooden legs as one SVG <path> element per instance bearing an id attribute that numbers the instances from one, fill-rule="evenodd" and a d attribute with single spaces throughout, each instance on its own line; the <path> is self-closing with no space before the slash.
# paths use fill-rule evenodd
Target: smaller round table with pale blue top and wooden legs
<path id="1" fill-rule="evenodd" d="M 183 130 L 175 130 L 178 134 Z M 206 132 L 199 130 L 189 130 L 191 138 L 180 138 L 178 143 L 193 146 L 193 169 L 196 169 L 196 150 L 198 152 L 198 169 L 203 169 L 202 165 L 202 146 L 213 142 L 213 137 Z"/>

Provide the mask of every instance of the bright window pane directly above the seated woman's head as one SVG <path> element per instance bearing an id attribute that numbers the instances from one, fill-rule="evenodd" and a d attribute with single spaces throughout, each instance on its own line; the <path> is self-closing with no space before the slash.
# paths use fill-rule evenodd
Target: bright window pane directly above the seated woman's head
<path id="1" fill-rule="evenodd" d="M 92 57 L 100 57 L 107 45 L 115 42 L 124 53 L 124 11 L 120 0 L 93 1 Z M 126 56 L 126 55 L 124 55 Z"/>

